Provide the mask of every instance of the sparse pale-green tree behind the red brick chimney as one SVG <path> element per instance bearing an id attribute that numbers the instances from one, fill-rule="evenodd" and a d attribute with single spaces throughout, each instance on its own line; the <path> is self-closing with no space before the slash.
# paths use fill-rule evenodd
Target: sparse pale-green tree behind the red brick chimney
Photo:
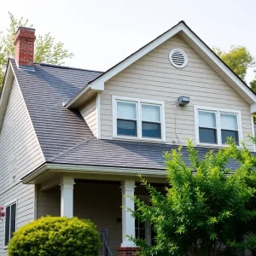
<path id="1" fill-rule="evenodd" d="M 32 27 L 32 24 L 22 17 L 16 19 L 14 15 L 9 13 L 9 28 L 6 33 L 0 32 L 0 85 L 3 84 L 4 72 L 9 57 L 15 55 L 15 32 L 19 26 Z M 61 65 L 64 60 L 72 58 L 73 53 L 69 53 L 61 42 L 55 43 L 49 33 L 46 35 L 38 35 L 35 42 L 35 62 L 44 62 L 49 64 Z"/>

